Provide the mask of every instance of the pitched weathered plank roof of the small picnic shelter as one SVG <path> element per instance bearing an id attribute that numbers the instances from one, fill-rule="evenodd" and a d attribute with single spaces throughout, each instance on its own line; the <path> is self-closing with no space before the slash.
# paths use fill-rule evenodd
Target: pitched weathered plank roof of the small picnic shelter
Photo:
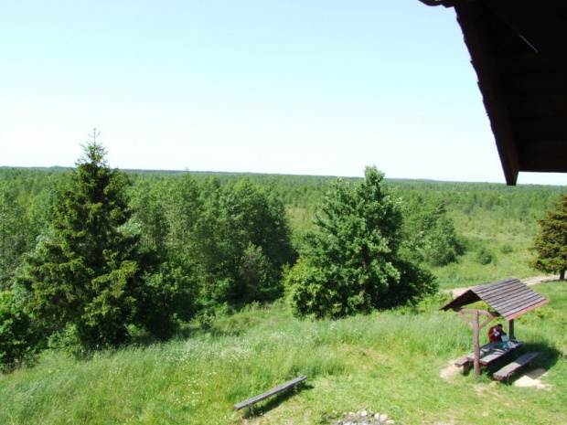
<path id="1" fill-rule="evenodd" d="M 512 320 L 549 303 L 538 292 L 533 291 L 517 278 L 488 283 L 471 288 L 446 304 L 442 310 L 459 310 L 465 305 L 484 301 L 506 320 Z"/>

